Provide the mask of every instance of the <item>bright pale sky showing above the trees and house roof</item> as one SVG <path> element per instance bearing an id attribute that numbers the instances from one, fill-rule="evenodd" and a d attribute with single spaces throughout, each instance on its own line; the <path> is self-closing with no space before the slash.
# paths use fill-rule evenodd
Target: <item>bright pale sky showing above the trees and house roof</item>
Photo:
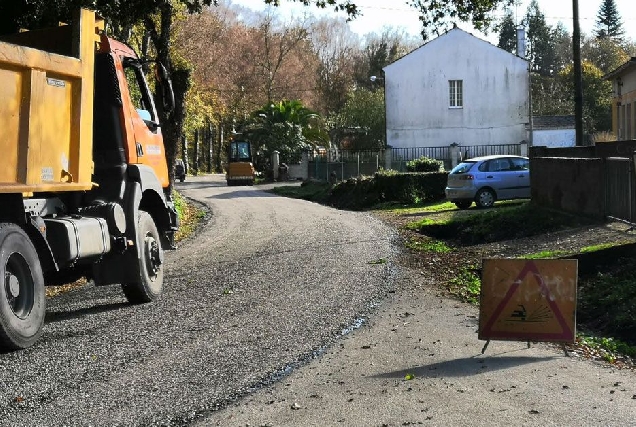
<path id="1" fill-rule="evenodd" d="M 262 10 L 265 6 L 263 0 L 231 0 L 233 4 L 239 4 L 254 10 Z M 370 32 L 380 33 L 386 26 L 393 28 L 403 28 L 413 36 L 419 36 L 421 25 L 418 21 L 417 11 L 400 0 L 355 0 L 354 3 L 362 11 L 362 16 L 349 23 L 352 31 L 359 35 Z M 521 0 L 520 6 L 516 7 L 516 14 L 520 20 L 526 13 L 530 0 Z M 572 32 L 572 1 L 570 0 L 538 0 L 539 8 L 546 17 L 549 25 L 554 26 L 559 21 L 563 22 L 568 31 Z M 636 2 L 634 0 L 615 0 L 616 8 L 623 21 L 625 35 L 636 41 Z M 579 24 L 581 32 L 592 34 L 596 23 L 596 15 L 601 5 L 601 0 L 579 0 Z M 304 7 L 301 4 L 294 4 L 289 0 L 281 0 L 280 12 L 286 16 L 299 16 L 304 11 L 313 14 L 329 14 L 334 16 L 333 9 L 321 11 L 316 7 Z M 515 9 L 513 8 L 513 11 Z M 344 13 L 339 13 L 344 17 Z M 461 28 L 473 33 L 476 36 L 497 42 L 497 37 L 478 33 L 471 25 L 462 24 Z"/>

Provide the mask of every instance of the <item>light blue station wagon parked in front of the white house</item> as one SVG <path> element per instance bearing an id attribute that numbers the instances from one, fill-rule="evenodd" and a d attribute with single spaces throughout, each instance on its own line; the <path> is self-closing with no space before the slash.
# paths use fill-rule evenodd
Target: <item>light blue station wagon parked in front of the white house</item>
<path id="1" fill-rule="evenodd" d="M 448 174 L 446 198 L 460 209 L 491 207 L 496 200 L 530 198 L 530 161 L 522 156 L 467 159 Z"/>

